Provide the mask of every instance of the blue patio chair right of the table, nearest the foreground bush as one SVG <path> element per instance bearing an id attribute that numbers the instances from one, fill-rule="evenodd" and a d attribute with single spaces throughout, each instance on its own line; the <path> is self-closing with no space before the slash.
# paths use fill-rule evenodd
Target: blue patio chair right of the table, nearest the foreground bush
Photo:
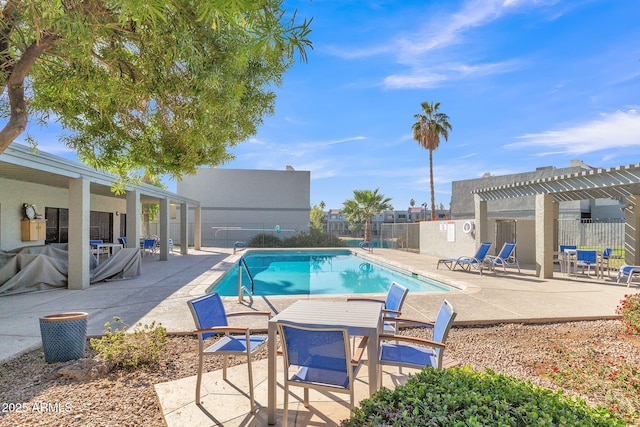
<path id="1" fill-rule="evenodd" d="M 428 340 L 404 335 L 380 335 L 380 377 L 383 365 L 442 369 L 445 341 L 456 314 L 451 303 L 444 300 L 435 322 L 398 319 L 409 326 L 429 328 L 432 330 L 432 336 Z"/>

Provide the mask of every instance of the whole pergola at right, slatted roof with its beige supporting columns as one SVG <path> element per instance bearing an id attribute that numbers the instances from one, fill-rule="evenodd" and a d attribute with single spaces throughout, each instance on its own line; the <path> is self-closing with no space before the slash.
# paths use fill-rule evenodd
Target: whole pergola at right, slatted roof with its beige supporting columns
<path id="1" fill-rule="evenodd" d="M 553 224 L 558 219 L 559 202 L 609 198 L 626 203 L 625 263 L 640 265 L 640 163 L 514 182 L 473 193 L 479 241 L 488 237 L 487 202 L 535 196 L 536 273 L 541 278 L 553 277 Z"/>

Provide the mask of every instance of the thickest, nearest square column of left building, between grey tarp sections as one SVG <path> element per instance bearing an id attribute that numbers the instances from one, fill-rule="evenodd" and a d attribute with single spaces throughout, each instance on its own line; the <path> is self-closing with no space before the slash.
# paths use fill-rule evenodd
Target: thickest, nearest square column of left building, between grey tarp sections
<path id="1" fill-rule="evenodd" d="M 91 191 L 84 178 L 69 178 L 69 289 L 87 289 L 90 283 L 89 227 L 91 224 Z M 73 262 L 72 262 L 73 260 Z"/>

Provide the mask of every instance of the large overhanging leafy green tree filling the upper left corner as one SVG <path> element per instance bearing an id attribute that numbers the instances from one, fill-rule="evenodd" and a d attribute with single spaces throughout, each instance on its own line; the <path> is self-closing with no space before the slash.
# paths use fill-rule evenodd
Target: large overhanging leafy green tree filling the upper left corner
<path id="1" fill-rule="evenodd" d="M 82 161 L 125 180 L 229 160 L 311 47 L 311 21 L 282 2 L 1 2 L 0 153 L 33 116 L 57 120 Z"/>

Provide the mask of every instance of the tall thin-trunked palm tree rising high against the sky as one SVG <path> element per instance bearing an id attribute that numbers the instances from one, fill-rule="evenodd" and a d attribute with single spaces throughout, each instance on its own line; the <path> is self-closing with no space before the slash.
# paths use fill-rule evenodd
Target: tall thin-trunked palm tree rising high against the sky
<path id="1" fill-rule="evenodd" d="M 440 146 L 440 137 L 445 141 L 449 139 L 449 116 L 439 113 L 440 103 L 423 102 L 422 113 L 413 117 L 417 120 L 411 127 L 413 130 L 413 139 L 424 149 L 429 150 L 429 179 L 431 184 L 431 219 L 436 219 L 436 201 L 435 190 L 433 187 L 433 150 L 437 150 Z"/>

